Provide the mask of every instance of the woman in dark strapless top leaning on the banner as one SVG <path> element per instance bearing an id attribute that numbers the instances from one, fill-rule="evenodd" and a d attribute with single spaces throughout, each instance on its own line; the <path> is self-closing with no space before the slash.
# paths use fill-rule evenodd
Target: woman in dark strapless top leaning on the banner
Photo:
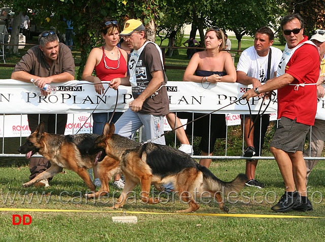
<path id="1" fill-rule="evenodd" d="M 205 33 L 205 51 L 197 52 L 189 61 L 184 72 L 183 81 L 202 83 L 202 85 L 216 84 L 218 82 L 235 83 L 236 69 L 231 55 L 222 51 L 225 46 L 224 33 L 218 27 L 210 28 Z M 195 73 L 195 74 L 194 74 Z M 196 119 L 202 114 L 194 114 Z M 190 118 L 191 119 L 190 115 Z M 211 136 L 209 139 L 209 128 Z M 191 134 L 192 124 L 187 125 L 186 133 Z M 211 114 L 194 122 L 193 135 L 201 136 L 200 149 L 202 155 L 212 155 L 217 138 L 226 135 L 224 114 Z M 209 145 L 210 144 L 210 145 Z M 209 168 L 210 158 L 201 158 L 200 165 Z"/>

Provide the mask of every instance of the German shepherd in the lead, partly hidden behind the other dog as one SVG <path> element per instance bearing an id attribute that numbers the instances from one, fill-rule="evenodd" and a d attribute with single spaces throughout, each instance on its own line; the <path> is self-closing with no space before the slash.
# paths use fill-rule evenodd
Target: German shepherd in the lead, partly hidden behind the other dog
<path id="1" fill-rule="evenodd" d="M 118 160 L 106 157 L 105 151 L 95 147 L 96 134 L 57 135 L 44 131 L 44 123 L 41 122 L 36 131 L 26 138 L 26 142 L 18 148 L 20 153 L 26 154 L 26 158 L 39 152 L 50 160 L 51 167 L 34 179 L 23 184 L 29 187 L 43 179 L 53 177 L 65 168 L 76 172 L 86 183 L 92 192 L 95 185 L 91 181 L 86 169 L 93 168 L 95 159 L 103 160 L 98 163 L 97 169 L 102 182 L 98 192 L 87 194 L 88 197 L 98 197 L 101 193 L 109 192 L 108 182 L 120 172 Z M 102 151 L 101 151 L 102 150 Z"/>

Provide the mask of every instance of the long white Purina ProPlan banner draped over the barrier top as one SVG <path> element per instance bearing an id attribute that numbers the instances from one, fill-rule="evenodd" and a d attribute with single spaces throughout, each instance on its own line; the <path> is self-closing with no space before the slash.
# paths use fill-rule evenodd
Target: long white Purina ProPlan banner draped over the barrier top
<path id="1" fill-rule="evenodd" d="M 1 113 L 80 113 L 107 112 L 114 108 L 116 91 L 109 89 L 105 96 L 98 95 L 92 83 L 72 80 L 53 85 L 58 88 L 55 94 L 47 97 L 38 96 L 39 88 L 33 84 L 13 79 L 0 80 Z M 107 88 L 108 84 L 104 84 Z M 209 113 L 237 101 L 247 90 L 239 83 L 201 84 L 192 82 L 168 82 L 166 87 L 171 111 L 190 111 Z M 131 87 L 120 86 L 117 111 L 128 108 L 132 100 Z M 256 113 L 262 103 L 261 99 L 249 101 L 252 113 Z M 262 106 L 265 109 L 268 100 Z M 275 113 L 276 96 L 272 96 L 267 113 Z M 231 104 L 215 113 L 248 114 L 246 100 Z"/>

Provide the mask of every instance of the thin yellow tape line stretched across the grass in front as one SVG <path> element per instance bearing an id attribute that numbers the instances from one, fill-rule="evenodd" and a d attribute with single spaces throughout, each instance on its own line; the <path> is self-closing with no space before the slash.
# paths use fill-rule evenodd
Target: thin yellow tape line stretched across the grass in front
<path id="1" fill-rule="evenodd" d="M 69 212 L 69 213 L 123 213 L 123 214 L 154 214 L 154 215 L 195 215 L 216 217 L 245 217 L 245 218 L 325 218 L 316 216 L 273 215 L 273 214 L 201 214 L 201 213 L 164 213 L 164 212 L 137 212 L 137 211 L 107 211 L 107 210 L 62 210 L 62 209 L 19 209 L 0 208 L 3 212 Z"/>

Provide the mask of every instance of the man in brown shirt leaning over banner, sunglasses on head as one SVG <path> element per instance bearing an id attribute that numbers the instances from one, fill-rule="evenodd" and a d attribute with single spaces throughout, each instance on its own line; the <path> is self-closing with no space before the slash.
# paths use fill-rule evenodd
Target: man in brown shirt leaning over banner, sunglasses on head
<path id="1" fill-rule="evenodd" d="M 55 32 L 44 31 L 39 35 L 39 46 L 30 48 L 15 66 L 12 79 L 29 83 L 31 78 L 35 85 L 43 88 L 46 84 L 62 83 L 75 78 L 75 63 L 71 50 L 59 43 Z M 46 95 L 42 91 L 43 95 Z M 28 125 L 34 132 L 40 121 L 45 124 L 45 132 L 64 134 L 67 124 L 67 114 L 27 114 Z M 55 122 L 56 121 L 56 122 Z M 33 179 L 51 166 L 45 158 L 31 157 L 29 160 L 29 179 Z M 47 180 L 37 185 L 49 186 Z"/>

